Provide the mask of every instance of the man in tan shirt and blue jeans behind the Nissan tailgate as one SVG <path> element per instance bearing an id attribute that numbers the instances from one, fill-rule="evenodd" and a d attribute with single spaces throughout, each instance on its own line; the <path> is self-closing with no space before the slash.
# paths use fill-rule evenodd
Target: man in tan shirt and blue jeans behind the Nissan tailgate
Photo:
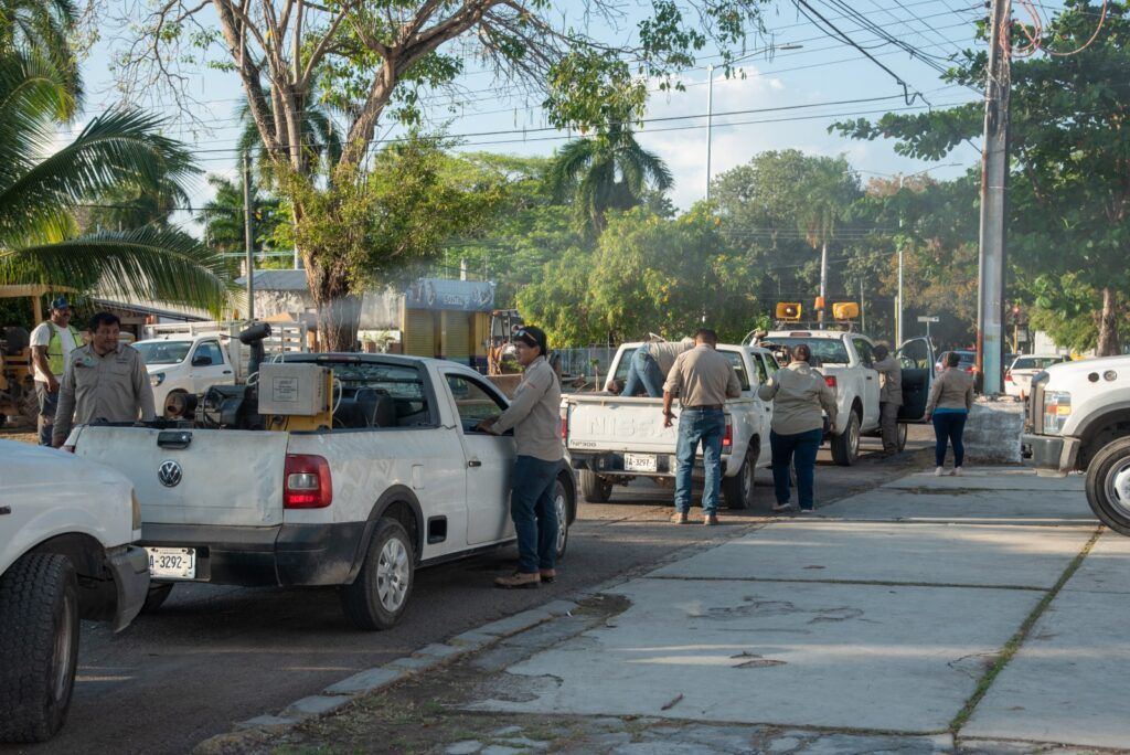
<path id="1" fill-rule="evenodd" d="M 741 396 L 741 381 L 730 361 L 714 350 L 718 333 L 702 328 L 695 333 L 695 347 L 679 354 L 663 383 L 663 427 L 671 426 L 671 402 L 679 397 L 679 433 L 675 455 L 676 524 L 687 522 L 690 510 L 690 474 L 698 444 L 703 446 L 706 485 L 703 489 L 703 524 L 718 524 L 718 498 L 722 485 L 722 436 L 725 434 L 727 399 Z"/>

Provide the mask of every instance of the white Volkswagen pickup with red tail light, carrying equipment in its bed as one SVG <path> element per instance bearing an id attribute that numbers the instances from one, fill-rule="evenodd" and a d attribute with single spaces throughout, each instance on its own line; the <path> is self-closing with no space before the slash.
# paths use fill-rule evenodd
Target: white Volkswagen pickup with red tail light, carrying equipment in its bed
<path id="1" fill-rule="evenodd" d="M 507 406 L 486 378 L 388 355 L 290 354 L 282 364 L 332 370 L 332 423 L 303 432 L 93 425 L 68 439 L 137 486 L 141 544 L 162 585 L 150 606 L 181 581 L 340 585 L 348 617 L 382 630 L 403 614 L 417 567 L 514 540 L 514 439 L 475 429 Z M 311 389 L 285 380 L 294 397 Z M 563 555 L 576 517 L 564 465 L 556 505 Z"/>

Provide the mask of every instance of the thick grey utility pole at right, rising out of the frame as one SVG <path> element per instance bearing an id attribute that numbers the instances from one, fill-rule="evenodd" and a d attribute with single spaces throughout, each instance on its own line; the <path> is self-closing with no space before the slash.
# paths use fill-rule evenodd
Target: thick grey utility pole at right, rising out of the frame
<path id="1" fill-rule="evenodd" d="M 985 394 L 1001 392 L 1011 0 L 992 0 L 984 147 L 981 151 L 981 253 L 977 264 L 977 359 Z"/>

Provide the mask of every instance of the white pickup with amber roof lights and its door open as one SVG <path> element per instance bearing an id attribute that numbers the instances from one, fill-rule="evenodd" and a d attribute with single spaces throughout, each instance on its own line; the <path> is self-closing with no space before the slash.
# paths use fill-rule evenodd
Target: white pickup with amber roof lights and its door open
<path id="1" fill-rule="evenodd" d="M 776 330 L 755 337 L 751 342 L 771 349 L 793 348 L 801 344 L 812 352 L 812 366 L 836 393 L 840 415 L 828 437 L 832 459 L 850 467 L 859 459 L 863 436 L 877 436 L 879 427 L 879 373 L 875 364 L 875 344 L 867 336 L 843 330 Z M 933 347 L 925 338 L 913 338 L 895 353 L 903 365 L 903 406 L 898 410 L 898 450 L 906 445 L 906 424 L 925 416 L 932 381 Z"/>

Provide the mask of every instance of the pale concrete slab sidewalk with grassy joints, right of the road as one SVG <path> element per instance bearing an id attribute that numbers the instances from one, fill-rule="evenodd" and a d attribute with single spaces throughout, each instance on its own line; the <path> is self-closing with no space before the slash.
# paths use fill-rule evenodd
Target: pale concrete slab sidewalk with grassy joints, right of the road
<path id="1" fill-rule="evenodd" d="M 670 720 L 579 752 L 1130 747 L 1128 578 L 1081 478 L 912 475 L 618 585 L 626 610 L 462 708 Z"/>

